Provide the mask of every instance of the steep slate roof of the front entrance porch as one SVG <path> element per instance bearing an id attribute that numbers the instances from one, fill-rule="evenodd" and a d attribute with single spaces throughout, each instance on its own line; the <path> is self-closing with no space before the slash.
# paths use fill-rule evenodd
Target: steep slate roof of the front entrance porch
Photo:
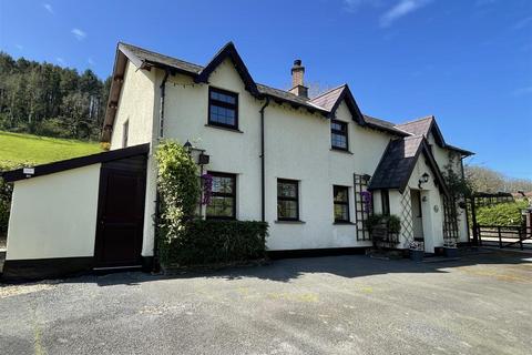
<path id="1" fill-rule="evenodd" d="M 371 176 L 368 190 L 397 189 L 402 193 L 421 153 L 426 156 L 427 164 L 432 171 L 432 178 L 437 181 L 440 190 L 448 194 L 443 176 L 422 135 L 390 141 Z"/>

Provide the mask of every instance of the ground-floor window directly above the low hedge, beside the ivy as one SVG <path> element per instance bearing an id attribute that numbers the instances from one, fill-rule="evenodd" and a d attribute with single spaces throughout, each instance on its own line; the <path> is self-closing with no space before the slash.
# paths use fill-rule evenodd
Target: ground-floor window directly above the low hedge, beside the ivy
<path id="1" fill-rule="evenodd" d="M 209 172 L 213 176 L 211 202 L 207 204 L 207 219 L 236 219 L 236 175 Z"/>

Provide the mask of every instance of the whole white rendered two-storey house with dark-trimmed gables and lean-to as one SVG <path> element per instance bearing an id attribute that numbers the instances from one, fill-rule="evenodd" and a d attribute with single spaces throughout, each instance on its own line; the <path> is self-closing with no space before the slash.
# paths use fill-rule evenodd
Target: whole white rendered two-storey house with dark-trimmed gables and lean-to
<path id="1" fill-rule="evenodd" d="M 285 91 L 255 82 L 233 43 L 205 67 L 119 43 L 103 132 L 111 151 L 72 164 L 35 166 L 31 174 L 4 175 L 14 182 L 8 264 L 84 257 L 98 266 L 103 257 L 102 266 L 120 266 L 151 258 L 156 205 L 153 154 L 164 139 L 191 142 L 203 172 L 213 175 L 213 199 L 202 207 L 202 215 L 268 222 L 272 252 L 368 247 L 365 221 L 372 212 L 401 219 L 397 247 L 422 240 L 426 252 L 432 253 L 443 245 L 444 236 L 467 242 L 464 211 L 459 210 L 458 220 L 446 219 L 449 192 L 442 172 L 452 164 L 461 174 L 462 158 L 472 153 L 449 145 L 433 116 L 395 124 L 362 114 L 347 84 L 308 98 L 304 72 L 301 62 L 295 61 L 293 88 Z M 121 175 L 121 169 L 136 174 Z M 115 173 L 120 176 L 105 180 Z M 86 181 L 79 184 L 80 179 Z M 83 209 L 90 213 L 83 213 L 83 233 L 69 235 L 73 233 L 69 223 L 80 219 L 72 193 L 57 200 L 71 206 L 63 211 L 63 216 L 72 214 L 71 222 L 49 225 L 44 232 L 23 225 L 29 216 L 50 224 L 52 217 L 35 211 L 45 210 L 40 205 L 43 200 L 30 203 L 28 196 L 55 180 L 68 181 L 65 189 L 72 193 L 86 186 L 82 194 L 90 203 Z M 106 193 L 127 189 L 137 195 L 129 202 L 137 206 L 130 211 L 136 221 L 129 230 L 135 230 L 134 237 L 116 232 L 102 212 Z M 53 242 L 57 235 L 70 244 L 45 253 L 27 247 L 60 244 Z M 135 243 L 126 250 L 137 257 L 116 256 L 120 252 L 113 243 Z"/>

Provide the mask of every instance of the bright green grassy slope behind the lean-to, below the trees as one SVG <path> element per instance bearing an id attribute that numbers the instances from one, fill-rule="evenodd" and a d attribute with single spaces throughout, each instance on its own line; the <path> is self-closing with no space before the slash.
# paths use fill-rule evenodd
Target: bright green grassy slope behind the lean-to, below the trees
<path id="1" fill-rule="evenodd" d="M 63 140 L 0 131 L 0 164 L 43 164 L 102 152 L 96 142 Z"/>

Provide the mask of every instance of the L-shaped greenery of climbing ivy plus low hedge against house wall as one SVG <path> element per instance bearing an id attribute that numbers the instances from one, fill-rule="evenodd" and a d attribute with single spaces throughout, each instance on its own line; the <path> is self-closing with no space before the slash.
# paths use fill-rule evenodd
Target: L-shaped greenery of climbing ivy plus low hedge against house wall
<path id="1" fill-rule="evenodd" d="M 211 200 L 212 176 L 198 176 L 193 158 L 181 144 L 163 142 L 155 159 L 160 196 L 156 234 L 163 266 L 231 263 L 265 256 L 267 223 L 205 221 L 195 214 L 200 202 L 207 204 Z"/>

